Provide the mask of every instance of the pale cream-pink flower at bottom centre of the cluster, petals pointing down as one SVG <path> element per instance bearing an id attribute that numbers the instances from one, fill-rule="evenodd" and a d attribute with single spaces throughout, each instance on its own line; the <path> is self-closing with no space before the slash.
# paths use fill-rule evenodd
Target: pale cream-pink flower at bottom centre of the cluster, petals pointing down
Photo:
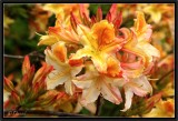
<path id="1" fill-rule="evenodd" d="M 119 81 L 118 79 L 116 79 Z M 92 63 L 86 64 L 86 73 L 77 77 L 72 82 L 82 89 L 81 104 L 87 105 L 95 102 L 99 94 L 106 100 L 119 104 L 122 98 L 118 87 L 113 83 L 113 78 L 99 74 Z"/>

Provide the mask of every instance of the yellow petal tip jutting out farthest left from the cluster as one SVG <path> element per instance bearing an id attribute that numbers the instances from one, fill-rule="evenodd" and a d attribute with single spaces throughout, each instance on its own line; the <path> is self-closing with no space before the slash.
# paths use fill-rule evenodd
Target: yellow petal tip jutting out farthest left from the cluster
<path id="1" fill-rule="evenodd" d="M 38 42 L 38 46 L 44 44 L 44 46 L 52 46 L 56 42 L 58 42 L 58 38 L 55 36 L 42 36 L 40 38 L 40 41 Z"/>

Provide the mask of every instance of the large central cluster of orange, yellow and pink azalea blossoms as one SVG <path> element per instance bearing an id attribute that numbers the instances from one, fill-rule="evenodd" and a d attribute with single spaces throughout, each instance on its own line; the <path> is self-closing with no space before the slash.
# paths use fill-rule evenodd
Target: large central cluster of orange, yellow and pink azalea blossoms
<path id="1" fill-rule="evenodd" d="M 93 103 L 99 95 L 120 104 L 123 91 L 122 111 L 127 111 L 134 94 L 152 92 L 147 74 L 160 53 L 150 44 L 151 26 L 141 11 L 136 12 L 132 28 L 120 28 L 122 14 L 117 4 L 106 18 L 100 8 L 90 18 L 88 7 L 78 6 L 76 13 L 56 12 L 55 27 L 49 27 L 38 43 L 48 46 L 46 62 L 53 67 L 46 80 L 47 89 L 62 84 L 68 94 L 81 94 L 82 105 Z"/>

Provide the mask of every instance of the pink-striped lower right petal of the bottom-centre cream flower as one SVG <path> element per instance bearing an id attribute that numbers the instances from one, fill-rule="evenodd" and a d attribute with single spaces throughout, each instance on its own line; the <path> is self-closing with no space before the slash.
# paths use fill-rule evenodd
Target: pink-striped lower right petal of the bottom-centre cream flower
<path id="1" fill-rule="evenodd" d="M 115 104 L 119 104 L 120 102 L 122 102 L 119 89 L 117 87 L 111 85 L 110 83 L 107 83 L 105 80 L 101 81 L 102 81 L 101 83 L 102 97 Z"/>

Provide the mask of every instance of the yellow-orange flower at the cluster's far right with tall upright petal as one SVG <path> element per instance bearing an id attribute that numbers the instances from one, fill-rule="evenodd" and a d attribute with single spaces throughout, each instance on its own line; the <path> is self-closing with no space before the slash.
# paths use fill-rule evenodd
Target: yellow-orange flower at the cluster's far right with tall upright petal
<path id="1" fill-rule="evenodd" d="M 135 27 L 131 28 L 131 32 L 128 32 L 128 42 L 123 46 L 122 50 L 141 57 L 145 67 L 148 67 L 152 62 L 152 57 L 160 57 L 159 51 L 149 43 L 151 33 L 151 27 L 146 23 L 144 13 L 137 12 Z"/>

